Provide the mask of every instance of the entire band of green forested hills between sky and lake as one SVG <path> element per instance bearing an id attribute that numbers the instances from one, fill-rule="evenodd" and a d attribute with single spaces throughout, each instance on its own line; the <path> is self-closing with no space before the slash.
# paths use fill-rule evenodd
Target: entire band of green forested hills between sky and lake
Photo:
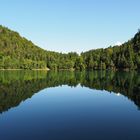
<path id="1" fill-rule="evenodd" d="M 140 68 L 140 31 L 121 46 L 68 54 L 43 50 L 0 26 L 0 69 L 105 70 Z"/>

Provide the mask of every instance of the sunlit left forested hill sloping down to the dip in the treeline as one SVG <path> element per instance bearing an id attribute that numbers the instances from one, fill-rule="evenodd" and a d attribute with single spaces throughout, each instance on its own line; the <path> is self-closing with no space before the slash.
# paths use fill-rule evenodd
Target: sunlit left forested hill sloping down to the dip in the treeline
<path id="1" fill-rule="evenodd" d="M 70 69 L 77 57 L 77 53 L 43 50 L 17 32 L 0 26 L 0 69 Z"/>

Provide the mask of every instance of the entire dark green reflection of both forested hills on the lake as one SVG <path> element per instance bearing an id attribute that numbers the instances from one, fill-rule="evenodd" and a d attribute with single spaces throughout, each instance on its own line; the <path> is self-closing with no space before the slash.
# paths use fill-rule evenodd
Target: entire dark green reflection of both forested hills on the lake
<path id="1" fill-rule="evenodd" d="M 121 93 L 140 107 L 140 75 L 137 72 L 1 71 L 0 112 L 18 106 L 44 88 L 79 83 L 91 89 Z"/>

